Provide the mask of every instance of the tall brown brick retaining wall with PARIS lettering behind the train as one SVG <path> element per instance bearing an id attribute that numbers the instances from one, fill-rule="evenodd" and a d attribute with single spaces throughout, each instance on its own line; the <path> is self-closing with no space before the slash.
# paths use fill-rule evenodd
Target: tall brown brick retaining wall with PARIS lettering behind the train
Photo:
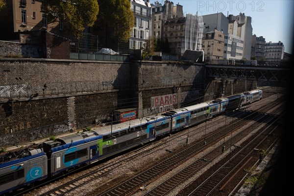
<path id="1" fill-rule="evenodd" d="M 151 61 L 1 58 L 0 77 L 0 147 L 103 123 L 115 109 L 143 116 L 254 87 L 205 79 L 203 65 Z"/>

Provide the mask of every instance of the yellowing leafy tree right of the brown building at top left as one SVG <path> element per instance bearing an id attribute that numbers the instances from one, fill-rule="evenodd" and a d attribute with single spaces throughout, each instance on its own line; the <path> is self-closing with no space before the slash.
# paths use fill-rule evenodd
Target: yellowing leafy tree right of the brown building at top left
<path id="1" fill-rule="evenodd" d="M 44 0 L 44 7 L 49 23 L 61 21 L 76 38 L 94 25 L 99 12 L 97 0 Z"/>

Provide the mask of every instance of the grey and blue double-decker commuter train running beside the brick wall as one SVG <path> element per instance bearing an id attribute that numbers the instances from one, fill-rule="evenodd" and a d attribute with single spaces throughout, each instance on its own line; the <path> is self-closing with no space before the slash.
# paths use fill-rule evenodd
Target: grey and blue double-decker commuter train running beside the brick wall
<path id="1" fill-rule="evenodd" d="M 260 100 L 253 90 L 95 130 L 45 141 L 37 148 L 0 156 L 0 195 L 195 125 Z"/>

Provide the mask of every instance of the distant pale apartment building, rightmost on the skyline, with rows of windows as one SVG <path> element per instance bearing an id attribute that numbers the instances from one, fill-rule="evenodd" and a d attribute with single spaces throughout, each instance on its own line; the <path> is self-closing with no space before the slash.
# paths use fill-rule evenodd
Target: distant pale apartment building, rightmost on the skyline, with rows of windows
<path id="1" fill-rule="evenodd" d="M 268 42 L 265 46 L 265 58 L 269 65 L 279 65 L 284 59 L 284 44 L 279 41 L 278 43 Z"/>

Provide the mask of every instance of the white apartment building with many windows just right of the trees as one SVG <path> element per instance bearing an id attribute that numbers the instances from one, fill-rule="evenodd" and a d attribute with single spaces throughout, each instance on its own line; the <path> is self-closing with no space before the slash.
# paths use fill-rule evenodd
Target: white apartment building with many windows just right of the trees
<path id="1" fill-rule="evenodd" d="M 135 16 L 135 27 L 129 39 L 129 48 L 141 49 L 145 47 L 151 33 L 151 5 L 149 0 L 130 0 L 130 2 Z"/>

